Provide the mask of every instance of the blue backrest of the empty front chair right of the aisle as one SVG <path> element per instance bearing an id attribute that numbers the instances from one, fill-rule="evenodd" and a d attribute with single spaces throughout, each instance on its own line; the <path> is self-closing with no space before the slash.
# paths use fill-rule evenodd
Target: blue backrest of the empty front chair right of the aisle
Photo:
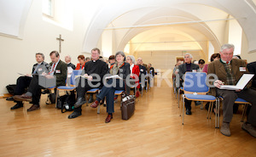
<path id="1" fill-rule="evenodd" d="M 184 92 L 189 93 L 207 93 L 207 73 L 205 72 L 186 72 L 183 82 Z"/>

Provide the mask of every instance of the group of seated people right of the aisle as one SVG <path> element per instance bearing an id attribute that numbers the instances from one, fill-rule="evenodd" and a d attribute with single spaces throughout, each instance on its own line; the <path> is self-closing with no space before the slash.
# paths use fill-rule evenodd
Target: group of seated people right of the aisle
<path id="1" fill-rule="evenodd" d="M 218 79 L 212 81 L 213 87 L 207 94 L 215 97 L 223 98 L 223 122 L 220 132 L 225 136 L 230 136 L 230 122 L 233 117 L 233 105 L 236 98 L 243 98 L 252 106 L 247 110 L 247 122 L 244 122 L 241 128 L 256 137 L 256 91 L 252 87 L 252 82 L 255 83 L 255 76 L 253 81 L 250 81 L 247 86 L 242 90 L 226 90 L 220 89 L 222 85 L 235 85 L 241 76 L 245 73 L 256 74 L 255 62 L 247 64 L 245 60 L 236 59 L 234 54 L 233 44 L 224 44 L 219 53 L 212 54 L 211 63 L 200 67 L 200 64 L 205 64 L 204 61 L 199 60 L 198 64 L 191 63 L 192 55 L 186 53 L 184 55 L 184 63 L 177 62 L 177 66 L 173 71 L 176 76 L 177 87 L 182 86 L 183 76 L 187 71 L 192 72 L 207 72 L 207 74 L 214 74 Z M 250 70 L 250 72 L 248 71 Z M 178 79 L 177 79 L 178 78 Z M 210 77 L 212 79 L 212 77 Z M 253 85 L 255 86 L 255 85 Z M 191 100 L 185 99 L 186 115 L 191 115 Z"/>

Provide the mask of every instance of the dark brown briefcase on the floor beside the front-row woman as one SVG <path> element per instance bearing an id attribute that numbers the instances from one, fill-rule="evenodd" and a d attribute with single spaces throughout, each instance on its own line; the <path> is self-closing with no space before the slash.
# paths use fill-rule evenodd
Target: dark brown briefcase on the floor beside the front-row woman
<path id="1" fill-rule="evenodd" d="M 129 120 L 131 115 L 134 114 L 135 110 L 135 96 L 134 95 L 126 95 L 126 93 L 122 94 L 121 99 L 121 113 L 123 120 Z"/>

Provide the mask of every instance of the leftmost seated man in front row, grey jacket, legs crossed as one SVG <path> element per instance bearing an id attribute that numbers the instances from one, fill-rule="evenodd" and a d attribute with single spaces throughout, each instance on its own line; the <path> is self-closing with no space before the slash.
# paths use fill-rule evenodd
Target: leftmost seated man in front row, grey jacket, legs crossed
<path id="1" fill-rule="evenodd" d="M 33 64 L 32 74 L 42 74 L 45 70 L 48 69 L 49 64 L 44 62 L 44 54 L 36 53 L 37 64 Z M 15 87 L 15 95 L 21 95 L 25 93 L 25 89 L 29 86 L 32 81 L 32 74 L 26 74 L 26 76 L 20 76 L 17 79 L 16 87 Z M 23 107 L 22 101 L 15 101 L 15 106 L 11 107 L 11 109 L 19 109 Z"/>

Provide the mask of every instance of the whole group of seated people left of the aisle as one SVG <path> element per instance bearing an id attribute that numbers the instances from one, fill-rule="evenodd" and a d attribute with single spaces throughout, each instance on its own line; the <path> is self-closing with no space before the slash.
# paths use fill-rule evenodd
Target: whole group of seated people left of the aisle
<path id="1" fill-rule="evenodd" d="M 134 85 L 137 88 L 140 87 L 139 81 L 145 79 L 147 68 L 143 66 L 143 60 L 137 59 L 137 64 L 134 56 L 129 55 L 125 59 L 125 53 L 117 52 L 115 55 L 109 57 L 109 64 L 106 64 L 100 59 L 100 49 L 93 48 L 91 50 L 90 61 L 84 61 L 84 55 L 79 55 L 79 64 L 75 65 L 71 63 L 70 56 L 65 57 L 65 62 L 61 61 L 60 54 L 57 51 L 53 51 L 49 54 L 51 63 L 44 62 L 44 54 L 36 53 L 37 64 L 33 65 L 32 75 L 20 76 L 17 79 L 15 88 L 15 106 L 11 109 L 19 109 L 23 107 L 23 101 L 29 101 L 32 106 L 27 111 L 40 109 L 40 97 L 41 89 L 40 76 L 44 76 L 46 79 L 52 79 L 55 77 L 56 87 L 65 86 L 67 79 L 67 66 L 70 66 L 74 70 L 83 70 L 81 77 L 76 79 L 76 92 L 77 100 L 74 104 L 74 110 L 71 115 L 68 115 L 69 119 L 73 119 L 82 114 L 82 105 L 86 103 L 85 93 L 95 87 L 101 88 L 101 92 L 96 95 L 96 101 L 90 106 L 96 108 L 99 102 L 103 98 L 107 100 L 107 112 L 106 123 L 110 122 L 113 118 L 113 98 L 115 90 L 126 90 L 126 93 L 130 94 L 130 87 L 127 85 Z M 109 67 L 108 67 L 109 66 Z M 149 64 L 149 73 L 154 76 L 154 68 Z M 104 82 L 104 76 L 116 76 L 121 79 L 109 78 L 106 83 Z M 100 77 L 100 79 L 97 78 Z M 150 75 L 149 75 L 150 76 Z M 128 82 L 129 81 L 129 82 Z M 133 83 L 131 83 L 133 82 Z M 56 92 L 55 87 L 55 92 Z M 25 89 L 27 92 L 25 93 Z"/>

